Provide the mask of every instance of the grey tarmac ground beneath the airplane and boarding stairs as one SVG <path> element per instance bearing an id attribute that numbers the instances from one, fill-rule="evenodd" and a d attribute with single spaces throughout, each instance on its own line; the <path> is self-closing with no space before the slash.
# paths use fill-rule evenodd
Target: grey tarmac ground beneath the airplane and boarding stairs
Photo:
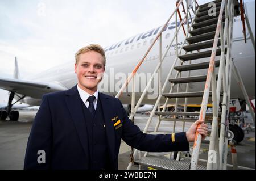
<path id="1" fill-rule="evenodd" d="M 19 111 L 20 116 L 18 121 L 0 121 L 0 170 L 23 169 L 27 140 L 36 112 L 37 111 Z M 135 124 L 143 131 L 147 119 L 147 115 L 135 115 Z M 154 131 L 157 121 L 158 117 L 154 116 L 148 131 Z M 173 132 L 173 124 L 172 121 L 163 121 L 160 124 L 159 131 L 171 133 Z M 187 131 L 190 125 L 191 123 L 186 123 L 184 131 Z M 183 131 L 182 123 L 177 122 L 175 132 L 181 131 Z M 192 143 L 190 146 L 192 148 Z M 208 144 L 201 144 L 200 159 L 207 159 L 208 147 Z M 245 132 L 244 140 L 236 146 L 236 149 L 237 165 L 255 170 L 255 132 Z M 130 146 L 121 141 L 121 148 L 118 156 L 119 169 L 126 169 L 129 165 L 130 150 Z M 152 153 L 152 155 L 164 157 L 169 154 L 170 153 Z M 230 148 L 227 161 L 229 164 L 227 169 L 233 169 Z M 206 165 L 204 162 L 201 164 Z M 138 165 L 134 165 L 131 169 L 138 169 Z M 147 167 L 144 167 L 144 169 L 147 169 Z"/>

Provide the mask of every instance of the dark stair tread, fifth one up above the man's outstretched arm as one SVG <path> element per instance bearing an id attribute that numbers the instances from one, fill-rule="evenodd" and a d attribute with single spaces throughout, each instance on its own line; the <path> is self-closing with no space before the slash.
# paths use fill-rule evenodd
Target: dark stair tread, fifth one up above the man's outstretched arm
<path id="1" fill-rule="evenodd" d="M 180 60 L 188 61 L 188 60 L 196 60 L 200 58 L 207 58 L 210 57 L 212 54 L 212 50 L 207 50 L 204 52 L 198 52 L 198 53 L 191 53 L 191 54 L 184 54 L 179 56 Z M 216 56 L 220 56 L 221 54 L 221 48 L 216 50 Z M 225 48 L 225 54 L 226 54 L 226 48 Z"/>

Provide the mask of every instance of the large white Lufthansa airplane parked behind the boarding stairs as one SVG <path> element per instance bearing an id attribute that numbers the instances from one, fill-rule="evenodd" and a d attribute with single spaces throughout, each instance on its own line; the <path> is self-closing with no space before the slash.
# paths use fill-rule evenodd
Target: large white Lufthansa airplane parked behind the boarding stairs
<path id="1" fill-rule="evenodd" d="M 255 33 L 255 1 L 245 1 L 246 15 L 249 18 L 249 22 L 252 28 L 253 33 Z M 178 22 L 178 26 L 179 26 Z M 191 22 L 189 22 L 191 23 Z M 98 85 L 98 90 L 104 92 L 105 94 L 115 96 L 121 88 L 122 82 L 125 79 L 121 79 L 121 75 L 125 75 L 126 78 L 133 71 L 137 62 L 142 58 L 154 37 L 160 31 L 162 26 L 152 28 L 149 31 L 139 33 L 135 36 L 129 37 L 128 39 L 114 43 L 108 47 L 105 47 L 106 54 L 106 67 L 104 78 L 102 79 L 100 85 Z M 167 45 L 170 44 L 172 35 L 175 32 L 175 22 L 168 24 L 166 30 L 163 32 L 162 47 L 163 49 L 167 48 Z M 255 35 L 254 35 L 255 37 Z M 247 32 L 245 40 L 242 33 L 242 22 L 241 17 L 234 17 L 234 28 L 233 28 L 233 44 L 232 44 L 232 57 L 234 58 L 234 63 L 236 64 L 238 70 L 241 73 L 243 83 L 245 84 L 247 94 L 251 99 L 255 98 L 255 50 L 251 44 L 250 34 Z M 178 45 L 183 44 L 184 35 L 179 33 L 178 36 Z M 164 52 L 164 50 L 163 50 Z M 175 43 L 172 44 L 170 51 L 167 54 L 166 59 L 163 61 L 162 65 L 162 82 L 167 77 L 168 70 L 170 70 L 171 65 L 173 64 L 176 54 L 175 54 Z M 155 69 L 156 64 L 158 64 L 159 58 L 159 48 L 155 46 L 152 48 L 151 52 L 148 54 L 146 60 L 143 62 L 141 68 L 138 69 L 138 74 L 141 77 L 146 76 L 146 73 L 152 73 Z M 218 58 L 220 56 L 217 56 Z M 199 60 L 193 61 L 204 62 L 208 61 L 209 58 L 201 58 Z M 217 60 L 217 59 L 216 59 Z M 54 68 L 48 69 L 36 75 L 27 77 L 26 79 L 19 79 L 18 76 L 18 63 L 15 59 L 15 73 L 14 78 L 1 78 L 0 77 L 0 88 L 10 91 L 9 100 L 19 100 L 19 102 L 26 103 L 30 106 L 39 106 L 43 94 L 55 91 L 64 91 L 68 90 L 71 87 L 77 84 L 77 77 L 74 72 L 75 60 L 71 60 L 68 63 L 58 65 Z M 118 74 L 120 73 L 120 74 Z M 122 73 L 122 74 L 121 74 Z M 207 70 L 197 70 L 191 71 L 191 76 L 199 74 L 207 74 Z M 120 76 L 120 77 L 118 77 Z M 183 75 L 185 76 L 185 75 Z M 139 76 L 138 76 L 139 77 Z M 174 75 L 172 75 L 174 77 Z M 135 99 L 138 100 L 143 92 L 143 85 L 148 82 L 149 78 L 146 81 L 140 80 L 138 82 L 139 90 L 135 93 Z M 243 100 L 242 91 L 238 88 L 236 80 L 232 77 L 231 83 L 231 99 L 239 98 Z M 171 84 L 167 84 L 166 90 L 170 90 Z M 201 91 L 201 87 L 204 87 L 204 82 L 201 83 L 189 83 L 189 91 Z M 127 90 L 131 90 L 131 83 L 127 87 Z M 180 86 L 180 91 L 185 91 L 185 85 Z M 175 89 L 174 89 L 175 92 Z M 151 91 L 146 94 L 153 95 L 155 92 Z M 155 96 L 156 98 L 156 96 Z M 119 98 L 126 110 L 131 104 L 131 93 L 129 91 L 123 92 L 121 98 Z M 179 99 L 181 103 L 184 104 L 184 99 Z M 155 99 L 148 98 L 143 99 L 142 104 L 154 104 Z M 164 100 L 160 101 L 160 104 L 163 104 Z M 170 104 L 174 102 L 171 101 Z M 188 99 L 188 104 L 200 104 L 201 98 L 191 98 Z M 11 105 L 7 110 L 8 115 L 12 115 L 14 111 L 11 111 Z M 0 112 L 0 115 L 3 111 Z M 17 115 L 18 113 L 14 113 Z M 14 120 L 18 120 L 17 116 L 14 117 Z M 5 119 L 5 117 L 2 117 Z"/>

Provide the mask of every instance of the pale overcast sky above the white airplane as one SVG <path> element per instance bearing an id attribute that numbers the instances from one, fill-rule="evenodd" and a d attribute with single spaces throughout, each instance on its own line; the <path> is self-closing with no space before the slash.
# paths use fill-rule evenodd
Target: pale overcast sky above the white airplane
<path id="1" fill-rule="evenodd" d="M 23 77 L 74 61 L 77 49 L 161 26 L 174 9 L 167 0 L 1 1 L 0 71 L 12 74 L 15 56 Z"/>

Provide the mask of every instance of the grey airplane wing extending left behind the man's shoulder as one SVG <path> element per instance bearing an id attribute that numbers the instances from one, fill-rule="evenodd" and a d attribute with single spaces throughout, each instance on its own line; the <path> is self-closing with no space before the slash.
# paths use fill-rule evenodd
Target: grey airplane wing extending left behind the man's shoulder
<path id="1" fill-rule="evenodd" d="M 67 87 L 64 87 L 59 82 L 34 82 L 0 77 L 0 89 L 13 91 L 31 98 L 42 98 L 43 94 L 67 90 Z"/>

